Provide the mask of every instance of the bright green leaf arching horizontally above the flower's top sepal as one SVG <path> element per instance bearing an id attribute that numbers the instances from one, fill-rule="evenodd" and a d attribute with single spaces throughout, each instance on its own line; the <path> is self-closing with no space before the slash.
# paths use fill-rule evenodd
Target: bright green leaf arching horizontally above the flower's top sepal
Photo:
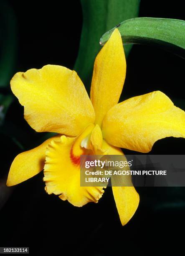
<path id="1" fill-rule="evenodd" d="M 100 38 L 104 45 L 112 31 Z M 185 58 L 185 21 L 163 18 L 133 18 L 123 21 L 118 27 L 123 44 L 147 44 L 160 46 Z"/>

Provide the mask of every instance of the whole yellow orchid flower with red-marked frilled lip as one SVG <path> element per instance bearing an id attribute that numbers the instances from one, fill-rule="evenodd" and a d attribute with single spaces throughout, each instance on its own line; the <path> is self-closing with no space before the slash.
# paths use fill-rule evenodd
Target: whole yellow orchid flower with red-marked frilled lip
<path id="1" fill-rule="evenodd" d="M 47 65 L 18 72 L 11 89 L 24 106 L 25 120 L 37 132 L 56 132 L 40 146 L 15 157 L 7 185 L 23 182 L 44 169 L 46 192 L 75 206 L 98 202 L 103 187 L 80 187 L 80 155 L 123 155 L 120 148 L 149 152 L 155 141 L 185 137 L 185 112 L 156 91 L 118 103 L 126 60 L 118 29 L 96 57 L 91 100 L 75 71 Z M 45 161 L 46 160 L 46 161 Z M 134 187 L 112 187 L 122 225 L 134 215 Z"/>

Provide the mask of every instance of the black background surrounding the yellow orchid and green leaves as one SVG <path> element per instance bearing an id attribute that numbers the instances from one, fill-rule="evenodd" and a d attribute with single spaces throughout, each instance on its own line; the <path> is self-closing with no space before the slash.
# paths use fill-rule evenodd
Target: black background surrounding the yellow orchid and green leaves
<path id="1" fill-rule="evenodd" d="M 83 21 L 80 1 L 8 2 L 18 23 L 15 72 L 46 64 L 72 69 Z M 184 19 L 183 2 L 141 0 L 139 17 Z M 133 46 L 123 99 L 161 90 L 185 110 L 184 85 L 183 59 L 155 47 Z M 12 124 L 10 133 L 20 131 L 25 149 L 36 146 L 34 141 L 40 135 L 23 119 L 17 100 L 10 106 L 6 122 Z M 20 153 L 10 143 L 9 137 L 1 138 L 4 176 Z M 185 154 L 184 148 L 185 139 L 165 138 L 155 143 L 151 153 Z M 110 187 L 98 204 L 78 208 L 47 195 L 42 178 L 43 173 L 10 188 L 12 194 L 0 210 L 0 246 L 29 246 L 31 255 L 184 255 L 184 187 L 136 188 L 138 210 L 122 227 Z"/>

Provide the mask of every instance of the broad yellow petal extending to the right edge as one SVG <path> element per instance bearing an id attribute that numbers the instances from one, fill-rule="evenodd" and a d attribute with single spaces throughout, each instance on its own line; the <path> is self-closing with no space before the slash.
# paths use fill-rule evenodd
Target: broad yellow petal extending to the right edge
<path id="1" fill-rule="evenodd" d="M 164 93 L 147 93 L 110 109 L 103 120 L 102 133 L 114 146 L 149 152 L 161 138 L 185 138 L 185 112 Z"/>

